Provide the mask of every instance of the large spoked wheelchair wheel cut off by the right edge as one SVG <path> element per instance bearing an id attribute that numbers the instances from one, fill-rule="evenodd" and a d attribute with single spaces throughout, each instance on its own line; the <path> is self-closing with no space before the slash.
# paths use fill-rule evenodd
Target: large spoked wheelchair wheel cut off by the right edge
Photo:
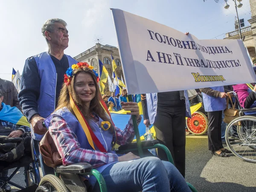
<path id="1" fill-rule="evenodd" d="M 227 125 L 226 143 L 241 160 L 256 163 L 256 117 L 241 116 Z"/>

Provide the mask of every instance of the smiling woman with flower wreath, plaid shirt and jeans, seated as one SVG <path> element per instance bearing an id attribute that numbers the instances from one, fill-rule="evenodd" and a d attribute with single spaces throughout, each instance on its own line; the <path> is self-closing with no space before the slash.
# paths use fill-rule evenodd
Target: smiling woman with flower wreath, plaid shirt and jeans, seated
<path id="1" fill-rule="evenodd" d="M 122 131 L 115 127 L 100 97 L 98 74 L 87 63 L 74 64 L 64 75 L 58 108 L 45 120 L 62 157 L 63 165 L 90 163 L 104 177 L 108 191 L 191 191 L 172 163 L 157 157 L 140 158 L 133 153 L 117 155 L 114 146 L 134 139 L 130 119 Z M 141 121 L 137 103 L 123 102 L 127 114 Z M 87 177 L 93 192 L 99 191 L 94 177 Z M 96 183 L 96 184 L 95 184 Z"/>

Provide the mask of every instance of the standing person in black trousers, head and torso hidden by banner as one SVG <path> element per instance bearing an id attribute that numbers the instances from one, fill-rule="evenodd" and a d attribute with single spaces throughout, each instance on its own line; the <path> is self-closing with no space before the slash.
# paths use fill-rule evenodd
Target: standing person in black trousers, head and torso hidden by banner
<path id="1" fill-rule="evenodd" d="M 156 98 L 156 116 L 154 122 L 150 122 L 149 103 L 147 102 L 146 94 L 141 95 L 144 124 L 146 126 L 151 123 L 154 125 L 157 140 L 170 150 L 175 166 L 181 175 L 185 177 L 185 120 L 186 110 L 189 110 L 186 108 L 186 102 L 189 105 L 188 98 L 185 99 L 184 91 L 157 93 Z M 168 160 L 166 153 L 161 149 L 158 149 L 158 157 L 161 160 Z"/>

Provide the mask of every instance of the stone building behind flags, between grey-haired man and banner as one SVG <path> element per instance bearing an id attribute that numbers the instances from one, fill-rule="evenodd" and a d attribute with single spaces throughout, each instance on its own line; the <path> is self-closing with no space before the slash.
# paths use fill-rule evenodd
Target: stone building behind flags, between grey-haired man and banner
<path id="1" fill-rule="evenodd" d="M 75 56 L 74 59 L 76 59 L 76 61 L 79 62 L 87 62 L 88 64 L 94 67 L 97 73 L 99 73 L 99 60 L 102 61 L 102 63 L 108 70 L 108 75 L 112 79 L 113 70 L 111 54 L 113 55 L 113 58 L 117 66 L 116 75 L 121 79 L 121 76 L 123 77 L 122 64 L 119 56 L 119 50 L 117 47 L 113 47 L 111 45 L 96 44 L 94 47 Z M 104 93 L 110 95 L 108 81 L 107 83 L 105 83 Z"/>

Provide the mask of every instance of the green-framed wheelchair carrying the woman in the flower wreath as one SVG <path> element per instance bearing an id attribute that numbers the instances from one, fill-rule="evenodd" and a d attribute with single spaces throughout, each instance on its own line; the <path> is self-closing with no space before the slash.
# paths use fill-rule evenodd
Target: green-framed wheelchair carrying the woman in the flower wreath
<path id="1" fill-rule="evenodd" d="M 128 99 L 132 99 L 131 95 Z M 161 148 L 168 157 L 169 162 L 174 165 L 171 152 L 162 144 L 159 144 L 157 140 L 140 140 L 140 133 L 137 126 L 135 116 L 132 116 L 134 131 L 136 136 L 136 143 L 128 143 L 126 145 L 119 146 L 116 153 L 126 153 L 135 151 L 140 157 L 146 157 L 145 154 L 149 153 L 148 149 Z M 69 166 L 57 166 L 54 169 L 55 175 L 45 175 L 39 183 L 36 192 L 88 192 L 87 186 L 79 175 L 93 175 L 96 177 L 99 183 L 101 192 L 107 192 L 107 186 L 103 176 L 89 163 L 75 163 Z M 194 186 L 187 183 L 192 192 L 197 192 Z"/>

